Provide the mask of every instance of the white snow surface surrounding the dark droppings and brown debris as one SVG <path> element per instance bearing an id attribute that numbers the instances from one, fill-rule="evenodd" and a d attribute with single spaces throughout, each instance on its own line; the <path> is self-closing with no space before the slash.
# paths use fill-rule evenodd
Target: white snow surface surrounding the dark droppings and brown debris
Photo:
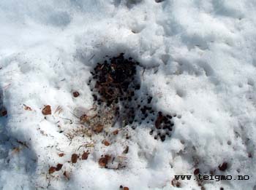
<path id="1" fill-rule="evenodd" d="M 255 190 L 255 10 L 255 0 L 1 0 L 0 189 L 176 189 L 174 175 L 200 168 L 249 180 L 185 180 L 180 189 Z M 78 132 L 74 115 L 93 104 L 91 69 L 120 52 L 147 68 L 140 75 L 154 106 L 177 114 L 165 142 L 146 123 L 110 146 Z M 125 168 L 99 167 L 100 155 L 122 156 L 126 146 Z M 69 162 L 87 150 L 88 159 Z"/>

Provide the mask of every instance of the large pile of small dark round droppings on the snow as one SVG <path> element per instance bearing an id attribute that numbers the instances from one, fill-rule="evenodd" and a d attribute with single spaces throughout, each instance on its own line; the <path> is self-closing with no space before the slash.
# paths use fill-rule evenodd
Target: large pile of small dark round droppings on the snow
<path id="1" fill-rule="evenodd" d="M 115 121 L 122 127 L 129 124 L 135 130 L 138 124 L 146 122 L 151 126 L 149 134 L 156 140 L 165 141 L 173 131 L 173 116 L 156 111 L 152 106 L 154 97 L 140 93 L 138 68 L 140 63 L 133 58 L 124 58 L 124 53 L 97 63 L 88 83 L 94 104 L 99 110 L 115 109 Z"/>

